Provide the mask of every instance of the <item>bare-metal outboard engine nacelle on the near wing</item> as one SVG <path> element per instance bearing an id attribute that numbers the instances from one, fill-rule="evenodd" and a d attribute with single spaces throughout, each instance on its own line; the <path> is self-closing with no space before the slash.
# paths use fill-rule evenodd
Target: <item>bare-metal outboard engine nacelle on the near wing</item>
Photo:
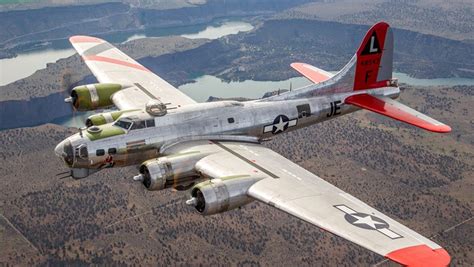
<path id="1" fill-rule="evenodd" d="M 212 215 L 242 207 L 253 199 L 247 196 L 247 190 L 261 178 L 233 176 L 212 179 L 199 183 L 191 190 L 192 205 L 202 215 Z"/>

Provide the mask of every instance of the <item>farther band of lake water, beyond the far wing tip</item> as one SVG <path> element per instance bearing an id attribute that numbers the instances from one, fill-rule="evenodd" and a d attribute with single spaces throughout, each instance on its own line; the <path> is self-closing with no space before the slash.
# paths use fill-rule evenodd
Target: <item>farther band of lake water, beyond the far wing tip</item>
<path id="1" fill-rule="evenodd" d="M 217 39 L 225 35 L 250 31 L 254 27 L 243 21 L 215 21 L 210 24 L 193 25 L 185 27 L 155 28 L 143 32 L 121 32 L 99 36 L 113 43 L 123 43 L 144 37 L 159 37 L 181 35 L 187 38 Z M 44 47 L 44 48 L 42 48 Z M 36 47 L 32 52 L 21 53 L 15 58 L 0 60 L 0 86 L 23 79 L 46 68 L 47 63 L 56 62 L 58 59 L 72 56 L 76 51 L 67 40 L 48 43 L 47 46 Z"/>

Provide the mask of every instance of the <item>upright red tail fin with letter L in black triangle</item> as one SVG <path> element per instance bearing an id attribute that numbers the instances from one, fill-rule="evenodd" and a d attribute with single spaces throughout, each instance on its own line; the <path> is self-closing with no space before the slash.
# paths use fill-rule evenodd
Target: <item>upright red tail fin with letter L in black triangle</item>
<path id="1" fill-rule="evenodd" d="M 385 22 L 372 26 L 356 53 L 353 90 L 387 86 L 392 79 L 393 33 Z"/>

